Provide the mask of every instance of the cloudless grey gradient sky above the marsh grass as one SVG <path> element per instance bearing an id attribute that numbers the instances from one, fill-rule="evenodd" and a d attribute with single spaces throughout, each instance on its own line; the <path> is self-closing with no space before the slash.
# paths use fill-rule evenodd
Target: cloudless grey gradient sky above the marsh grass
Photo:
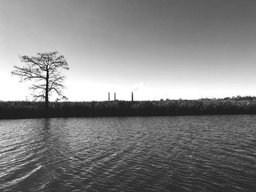
<path id="1" fill-rule="evenodd" d="M 70 101 L 256 95 L 255 0 L 0 0 L 0 100 L 18 55 L 59 51 Z"/>

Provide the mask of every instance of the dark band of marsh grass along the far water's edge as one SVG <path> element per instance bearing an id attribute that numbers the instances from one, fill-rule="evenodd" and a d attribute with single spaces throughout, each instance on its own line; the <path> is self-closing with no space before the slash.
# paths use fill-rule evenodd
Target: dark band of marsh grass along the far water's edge
<path id="1" fill-rule="evenodd" d="M 256 97 L 160 101 L 0 101 L 0 118 L 256 114 Z"/>

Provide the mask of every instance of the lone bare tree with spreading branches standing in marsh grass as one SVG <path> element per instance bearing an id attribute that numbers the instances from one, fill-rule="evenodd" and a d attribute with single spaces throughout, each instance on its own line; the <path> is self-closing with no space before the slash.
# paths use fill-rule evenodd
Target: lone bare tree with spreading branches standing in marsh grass
<path id="1" fill-rule="evenodd" d="M 14 66 L 13 75 L 20 77 L 20 82 L 33 81 L 30 89 L 35 99 L 45 100 L 45 110 L 48 110 L 49 96 L 56 93 L 58 99 L 67 99 L 62 90 L 64 89 L 64 75 L 62 69 L 69 69 L 66 59 L 57 51 L 49 53 L 37 53 L 36 56 L 19 56 L 24 66 Z"/>

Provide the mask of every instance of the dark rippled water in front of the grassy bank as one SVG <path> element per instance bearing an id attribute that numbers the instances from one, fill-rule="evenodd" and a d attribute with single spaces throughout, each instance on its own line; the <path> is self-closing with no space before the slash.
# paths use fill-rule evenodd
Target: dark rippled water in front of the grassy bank
<path id="1" fill-rule="evenodd" d="M 0 191 L 256 191 L 256 115 L 0 120 Z"/>

